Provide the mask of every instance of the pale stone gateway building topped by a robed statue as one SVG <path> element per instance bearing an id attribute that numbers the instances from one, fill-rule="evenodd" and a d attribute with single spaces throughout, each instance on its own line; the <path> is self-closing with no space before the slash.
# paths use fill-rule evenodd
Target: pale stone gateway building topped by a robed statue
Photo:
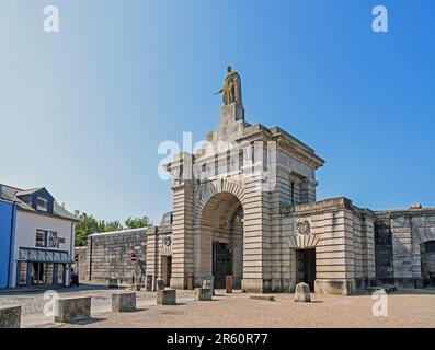
<path id="1" fill-rule="evenodd" d="M 293 292 L 305 281 L 345 295 L 434 282 L 435 209 L 375 212 L 343 197 L 317 201 L 324 161 L 278 127 L 247 122 L 230 68 L 221 92 L 218 128 L 197 152 L 165 165 L 174 179 L 172 225 L 147 231 L 147 275 L 175 289 L 208 276 L 225 288 L 232 276 L 245 292 Z"/>

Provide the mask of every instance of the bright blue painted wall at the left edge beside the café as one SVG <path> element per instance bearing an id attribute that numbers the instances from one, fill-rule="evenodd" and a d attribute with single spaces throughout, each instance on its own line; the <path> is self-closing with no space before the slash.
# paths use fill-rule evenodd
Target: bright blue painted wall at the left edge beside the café
<path id="1" fill-rule="evenodd" d="M 0 289 L 12 287 L 15 220 L 16 203 L 0 199 Z"/>

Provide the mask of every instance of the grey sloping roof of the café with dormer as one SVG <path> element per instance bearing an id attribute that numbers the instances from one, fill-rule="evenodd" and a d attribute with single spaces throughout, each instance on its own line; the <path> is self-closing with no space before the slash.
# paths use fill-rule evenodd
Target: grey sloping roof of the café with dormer
<path id="1" fill-rule="evenodd" d="M 19 209 L 31 211 L 44 215 L 50 215 L 60 219 L 67 219 L 71 221 L 77 221 L 77 218 L 71 214 L 68 210 L 66 210 L 62 206 L 60 206 L 56 200 L 53 203 L 53 213 L 38 211 L 32 206 L 27 205 L 23 200 L 20 199 L 22 196 L 33 195 L 39 190 L 44 189 L 44 187 L 33 188 L 33 189 L 21 189 L 12 186 L 1 185 L 0 184 L 0 198 L 9 201 L 13 201 L 18 205 Z"/>

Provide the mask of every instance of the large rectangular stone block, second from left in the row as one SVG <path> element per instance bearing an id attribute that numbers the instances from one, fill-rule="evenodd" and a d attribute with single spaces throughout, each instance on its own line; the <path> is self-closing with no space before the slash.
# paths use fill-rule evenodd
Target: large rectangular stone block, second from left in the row
<path id="1" fill-rule="evenodd" d="M 57 299 L 55 322 L 71 323 L 91 318 L 91 296 Z"/>

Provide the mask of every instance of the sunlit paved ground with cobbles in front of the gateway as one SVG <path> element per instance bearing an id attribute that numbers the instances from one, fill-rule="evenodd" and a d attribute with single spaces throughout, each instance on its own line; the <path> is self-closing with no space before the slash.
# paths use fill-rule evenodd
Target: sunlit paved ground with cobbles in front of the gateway
<path id="1" fill-rule="evenodd" d="M 402 290 L 388 295 L 388 316 L 375 317 L 370 295 L 312 294 L 310 304 L 295 303 L 290 294 L 275 301 L 251 300 L 251 294 L 217 292 L 213 302 L 194 302 L 191 291 L 178 291 L 179 305 L 157 306 L 156 293 L 137 292 L 138 311 L 111 313 L 111 294 L 103 287 L 81 288 L 64 295 L 91 295 L 92 319 L 54 324 L 44 316 L 43 293 L 0 294 L 0 305 L 21 304 L 23 327 L 435 327 L 435 290 Z"/>

